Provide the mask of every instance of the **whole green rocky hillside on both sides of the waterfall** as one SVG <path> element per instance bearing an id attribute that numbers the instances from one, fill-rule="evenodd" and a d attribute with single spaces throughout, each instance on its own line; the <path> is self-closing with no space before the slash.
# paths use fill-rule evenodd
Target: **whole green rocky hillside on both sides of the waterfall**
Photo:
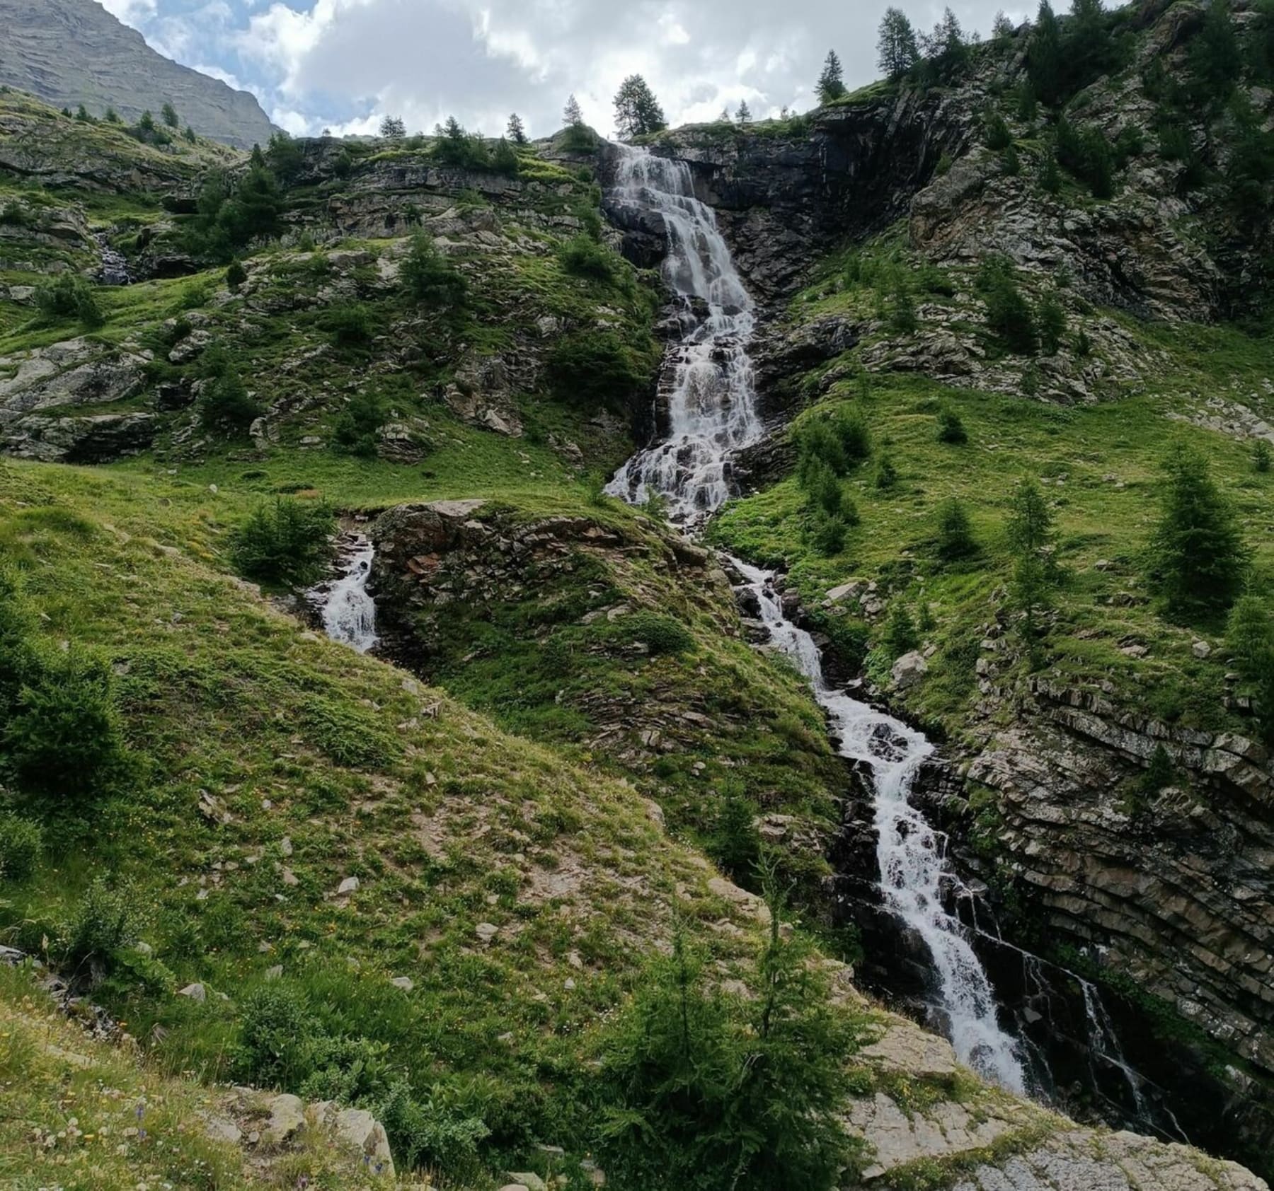
<path id="1" fill-rule="evenodd" d="M 1144 557 L 1185 444 L 1270 611 L 1271 101 L 1156 90 L 1199 69 L 1192 4 L 1102 20 L 1121 57 L 1033 108 L 1001 31 L 654 141 L 761 298 L 708 354 L 754 359 L 767 434 L 696 541 L 603 491 L 708 309 L 631 151 L 248 157 L 0 95 L 0 1171 L 1264 1191 L 1268 687 Z M 338 542 L 364 654 L 320 632 Z M 915 1023 L 950 1028 L 871 774 L 748 562 L 938 744 L 934 902 L 1036 1099 Z"/>

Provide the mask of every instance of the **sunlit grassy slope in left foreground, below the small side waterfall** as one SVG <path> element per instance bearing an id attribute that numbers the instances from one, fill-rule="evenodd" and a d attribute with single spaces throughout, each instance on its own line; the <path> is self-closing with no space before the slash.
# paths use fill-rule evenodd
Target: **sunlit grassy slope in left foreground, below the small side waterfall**
<path id="1" fill-rule="evenodd" d="M 108 872 L 153 910 L 172 979 L 103 995 L 139 1037 L 164 1027 L 169 1070 L 227 1074 L 234 1003 L 282 963 L 418 1076 L 480 1071 L 501 1141 L 548 1132 L 544 1071 L 578 1074 L 580 1032 L 674 903 L 722 959 L 747 935 L 710 929 L 731 916 L 711 869 L 660 840 L 633 789 L 303 634 L 209 568 L 220 517 L 206 489 L 0 468 L 0 550 L 51 641 L 112 658 L 152 761 L 141 790 L 61 821 L 37 878 L 6 888 L 8 934 L 38 951 Z M 199 812 L 204 791 L 228 823 Z M 350 875 L 362 887 L 336 897 Z M 501 928 L 489 948 L 484 921 Z M 233 1001 L 167 995 L 191 980 Z"/>

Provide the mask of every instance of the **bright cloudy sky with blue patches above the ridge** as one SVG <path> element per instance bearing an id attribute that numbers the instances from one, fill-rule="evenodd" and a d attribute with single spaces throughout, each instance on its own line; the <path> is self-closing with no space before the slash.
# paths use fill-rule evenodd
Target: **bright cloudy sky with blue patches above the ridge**
<path id="1" fill-rule="evenodd" d="M 850 87 L 875 78 L 888 0 L 103 0 L 161 53 L 254 92 L 296 134 L 409 131 L 448 115 L 488 135 L 511 111 L 533 136 L 562 125 L 572 92 L 612 129 L 610 98 L 641 73 L 673 123 L 713 120 L 747 99 L 753 116 L 814 104 L 828 48 Z M 933 25 L 941 3 L 902 0 Z M 1022 0 L 956 0 L 986 33 Z"/>

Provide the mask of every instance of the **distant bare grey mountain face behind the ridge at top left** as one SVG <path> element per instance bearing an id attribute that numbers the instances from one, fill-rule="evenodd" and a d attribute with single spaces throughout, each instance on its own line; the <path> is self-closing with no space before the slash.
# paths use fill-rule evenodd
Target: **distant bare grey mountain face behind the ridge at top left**
<path id="1" fill-rule="evenodd" d="M 55 107 L 113 107 L 131 122 L 172 103 L 196 132 L 240 149 L 274 131 L 254 95 L 169 61 L 94 0 L 0 0 L 0 83 Z"/>

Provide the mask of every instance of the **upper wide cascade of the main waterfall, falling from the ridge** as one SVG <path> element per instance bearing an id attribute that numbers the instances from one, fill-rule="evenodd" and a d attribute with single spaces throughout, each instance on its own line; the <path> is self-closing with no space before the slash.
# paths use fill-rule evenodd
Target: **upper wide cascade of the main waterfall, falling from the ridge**
<path id="1" fill-rule="evenodd" d="M 673 520 L 693 524 L 725 503 L 733 454 L 761 436 L 748 355 L 753 303 L 716 215 L 694 197 L 689 165 L 627 145 L 618 153 L 612 205 L 661 219 L 682 338 L 661 383 L 669 435 L 633 456 L 606 491 L 636 504 L 659 494 Z"/>

